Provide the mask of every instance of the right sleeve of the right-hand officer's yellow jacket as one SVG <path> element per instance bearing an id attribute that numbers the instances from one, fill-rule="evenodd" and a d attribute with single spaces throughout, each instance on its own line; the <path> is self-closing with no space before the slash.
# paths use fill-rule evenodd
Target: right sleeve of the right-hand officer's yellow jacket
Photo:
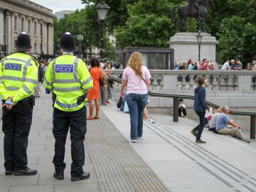
<path id="1" fill-rule="evenodd" d="M 93 87 L 93 80 L 85 63 L 80 59 L 78 63 L 78 75 L 83 90 L 90 90 Z"/>

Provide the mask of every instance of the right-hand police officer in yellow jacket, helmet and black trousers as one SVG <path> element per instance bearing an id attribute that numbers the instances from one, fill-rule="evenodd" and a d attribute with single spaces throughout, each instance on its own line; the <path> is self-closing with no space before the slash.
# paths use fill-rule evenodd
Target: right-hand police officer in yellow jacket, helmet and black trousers
<path id="1" fill-rule="evenodd" d="M 53 105 L 53 135 L 55 137 L 55 156 L 53 164 L 57 179 L 64 178 L 65 141 L 70 127 L 71 139 L 71 181 L 90 177 L 84 172 L 84 140 L 86 133 L 85 91 L 92 88 L 93 82 L 82 59 L 73 55 L 77 50 L 74 36 L 67 32 L 60 38 L 63 55 L 53 59 L 46 69 L 44 85 L 55 95 Z"/>

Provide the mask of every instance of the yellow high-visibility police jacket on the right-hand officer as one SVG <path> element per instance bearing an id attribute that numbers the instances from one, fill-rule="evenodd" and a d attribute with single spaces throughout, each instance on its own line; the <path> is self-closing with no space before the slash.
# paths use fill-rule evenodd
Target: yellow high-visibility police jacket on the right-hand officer
<path id="1" fill-rule="evenodd" d="M 53 107 L 73 112 L 84 106 L 83 102 L 78 105 L 78 97 L 92 88 L 93 81 L 82 59 L 73 55 L 61 55 L 50 61 L 44 85 L 56 95 Z"/>

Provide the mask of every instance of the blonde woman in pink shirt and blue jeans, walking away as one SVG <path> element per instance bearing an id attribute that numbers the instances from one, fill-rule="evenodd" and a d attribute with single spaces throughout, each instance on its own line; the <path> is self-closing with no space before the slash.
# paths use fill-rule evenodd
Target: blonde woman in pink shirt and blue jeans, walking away
<path id="1" fill-rule="evenodd" d="M 132 53 L 122 75 L 121 85 L 121 97 L 124 97 L 124 88 L 127 87 L 125 100 L 129 107 L 132 142 L 142 138 L 143 112 L 148 102 L 147 87 L 150 85 L 150 78 L 149 70 L 142 64 L 142 54 Z"/>

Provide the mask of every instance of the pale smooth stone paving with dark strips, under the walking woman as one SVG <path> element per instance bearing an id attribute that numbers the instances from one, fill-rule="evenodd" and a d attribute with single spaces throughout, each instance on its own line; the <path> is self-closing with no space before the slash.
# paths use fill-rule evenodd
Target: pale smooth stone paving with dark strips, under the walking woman
<path id="1" fill-rule="evenodd" d="M 114 105 L 101 109 L 129 139 L 129 114 Z M 156 123 L 144 122 L 144 137 L 132 146 L 170 191 L 256 191 L 255 141 L 245 144 L 206 129 L 207 144 L 199 145 L 190 133 L 196 122 L 175 123 L 169 115 L 151 115 Z"/>

